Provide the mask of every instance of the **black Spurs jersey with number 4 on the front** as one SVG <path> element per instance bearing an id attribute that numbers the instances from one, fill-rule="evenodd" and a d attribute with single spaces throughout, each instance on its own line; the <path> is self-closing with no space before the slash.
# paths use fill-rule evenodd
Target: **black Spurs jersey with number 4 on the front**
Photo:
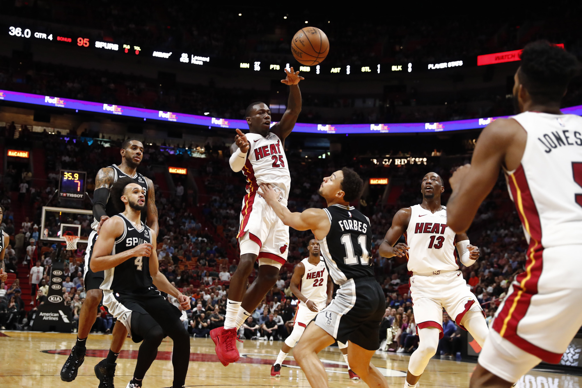
<path id="1" fill-rule="evenodd" d="M 151 229 L 141 223 L 141 230 L 136 228 L 122 213 L 114 217 L 123 220 L 123 234 L 115 239 L 111 255 L 128 251 L 134 246 L 151 241 Z M 101 283 L 101 290 L 113 290 L 116 292 L 140 292 L 147 290 L 152 285 L 150 276 L 150 258 L 134 257 L 125 260 L 116 267 L 105 270 L 104 281 Z"/>

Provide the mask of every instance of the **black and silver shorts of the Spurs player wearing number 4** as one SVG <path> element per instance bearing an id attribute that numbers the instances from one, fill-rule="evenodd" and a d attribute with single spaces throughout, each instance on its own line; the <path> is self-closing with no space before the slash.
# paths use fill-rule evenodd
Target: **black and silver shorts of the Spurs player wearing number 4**
<path id="1" fill-rule="evenodd" d="M 132 331 L 133 312 L 150 315 L 164 330 L 172 326 L 172 320 L 179 321 L 182 316 L 180 310 L 166 301 L 154 287 L 139 292 L 104 290 L 103 305 L 111 315 L 125 325 L 127 333 L 135 343 L 141 342 L 143 338 Z"/>

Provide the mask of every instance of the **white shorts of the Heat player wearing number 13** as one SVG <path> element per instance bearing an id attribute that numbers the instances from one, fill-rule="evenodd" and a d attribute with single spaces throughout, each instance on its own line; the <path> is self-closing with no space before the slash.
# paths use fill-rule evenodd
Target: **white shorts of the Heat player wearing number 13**
<path id="1" fill-rule="evenodd" d="M 441 338 L 443 308 L 462 329 L 461 320 L 467 311 L 483 311 L 461 271 L 415 273 L 410 277 L 410 295 L 418 329 L 437 327 Z"/>

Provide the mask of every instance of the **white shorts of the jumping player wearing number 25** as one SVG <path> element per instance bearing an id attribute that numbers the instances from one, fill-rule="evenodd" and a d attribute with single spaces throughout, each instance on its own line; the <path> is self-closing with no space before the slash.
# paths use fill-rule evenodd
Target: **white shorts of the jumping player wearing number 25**
<path id="1" fill-rule="evenodd" d="M 279 202 L 287 206 L 285 198 L 279 197 Z M 251 191 L 243 198 L 237 238 L 240 254 L 258 255 L 259 264 L 272 264 L 281 268 L 287 261 L 289 227 L 283 224 L 281 218 L 277 217 L 275 211 L 257 194 L 257 191 Z M 247 249 L 249 245 L 244 244 L 247 241 L 254 241 L 258 245 L 258 252 L 256 249 Z"/>

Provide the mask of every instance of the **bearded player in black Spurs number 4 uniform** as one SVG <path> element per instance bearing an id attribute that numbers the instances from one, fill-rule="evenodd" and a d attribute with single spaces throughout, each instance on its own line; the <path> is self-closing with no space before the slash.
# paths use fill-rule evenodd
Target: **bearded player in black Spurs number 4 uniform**
<path id="1" fill-rule="evenodd" d="M 104 271 L 103 305 L 125 325 L 135 343 L 143 341 L 127 388 L 142 386 L 145 372 L 166 335 L 173 341 L 172 388 L 183 387 L 190 360 L 190 336 L 180 321 L 182 313 L 158 290 L 173 295 L 184 309 L 190 308 L 190 298 L 158 271 L 153 246 L 156 234 L 141 220 L 141 210 L 146 206 L 145 189 L 130 183 L 122 189 L 120 197 L 125 211 L 109 218 L 101 227 L 93 247 L 91 270 Z"/>

